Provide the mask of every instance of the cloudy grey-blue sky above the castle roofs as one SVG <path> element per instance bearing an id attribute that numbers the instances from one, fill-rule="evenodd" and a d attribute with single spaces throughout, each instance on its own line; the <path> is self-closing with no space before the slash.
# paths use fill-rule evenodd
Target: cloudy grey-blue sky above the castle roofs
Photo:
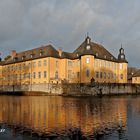
<path id="1" fill-rule="evenodd" d="M 1 57 L 52 44 L 73 52 L 87 35 L 140 67 L 139 0 L 0 0 Z"/>

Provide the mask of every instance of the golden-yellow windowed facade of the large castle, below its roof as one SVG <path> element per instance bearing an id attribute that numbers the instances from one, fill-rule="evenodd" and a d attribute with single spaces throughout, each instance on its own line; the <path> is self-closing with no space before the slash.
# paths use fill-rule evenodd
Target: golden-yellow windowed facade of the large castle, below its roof
<path id="1" fill-rule="evenodd" d="M 46 57 L 0 66 L 0 85 L 42 83 L 89 83 L 91 78 L 102 83 L 127 83 L 127 63 L 96 59 Z"/>

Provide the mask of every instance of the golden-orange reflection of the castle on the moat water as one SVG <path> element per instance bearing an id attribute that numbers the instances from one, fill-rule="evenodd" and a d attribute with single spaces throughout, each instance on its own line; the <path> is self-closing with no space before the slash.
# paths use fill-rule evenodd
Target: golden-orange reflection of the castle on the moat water
<path id="1" fill-rule="evenodd" d="M 12 97 L 0 98 L 0 122 L 43 133 L 65 134 L 79 128 L 90 135 L 106 128 L 125 127 L 123 98 Z"/>

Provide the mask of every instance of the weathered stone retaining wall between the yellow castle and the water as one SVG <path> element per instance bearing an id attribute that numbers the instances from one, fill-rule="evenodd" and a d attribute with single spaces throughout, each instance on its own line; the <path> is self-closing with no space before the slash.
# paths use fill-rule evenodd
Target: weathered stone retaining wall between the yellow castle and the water
<path id="1" fill-rule="evenodd" d="M 113 95 L 138 94 L 140 85 L 136 84 L 33 84 L 1 86 L 1 92 L 37 92 L 49 95 Z"/>

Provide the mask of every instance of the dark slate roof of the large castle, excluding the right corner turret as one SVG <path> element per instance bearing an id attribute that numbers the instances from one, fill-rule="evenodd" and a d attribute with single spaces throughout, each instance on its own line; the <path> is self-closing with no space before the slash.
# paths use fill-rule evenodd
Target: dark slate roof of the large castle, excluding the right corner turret
<path id="1" fill-rule="evenodd" d="M 87 40 L 89 42 L 87 42 Z M 124 60 L 116 59 L 102 45 L 91 42 L 90 40 L 91 40 L 90 37 L 87 36 L 85 41 L 73 53 L 62 52 L 60 56 L 59 51 L 56 50 L 52 45 L 46 45 L 46 46 L 42 46 L 42 47 L 35 48 L 32 50 L 27 50 L 24 52 L 17 53 L 14 60 L 12 57 L 10 57 L 8 60 L 3 61 L 3 64 L 10 64 L 10 63 L 15 63 L 15 62 L 17 63 L 17 62 L 33 60 L 33 59 L 38 59 L 38 58 L 43 58 L 43 57 L 54 57 L 54 58 L 60 58 L 60 59 L 64 59 L 64 58 L 80 59 L 80 57 L 83 55 L 94 55 L 95 58 L 113 61 L 113 62 L 127 62 L 126 60 L 124 61 Z M 90 46 L 90 49 L 87 49 L 87 45 Z M 40 55 L 40 52 L 42 55 Z"/>

